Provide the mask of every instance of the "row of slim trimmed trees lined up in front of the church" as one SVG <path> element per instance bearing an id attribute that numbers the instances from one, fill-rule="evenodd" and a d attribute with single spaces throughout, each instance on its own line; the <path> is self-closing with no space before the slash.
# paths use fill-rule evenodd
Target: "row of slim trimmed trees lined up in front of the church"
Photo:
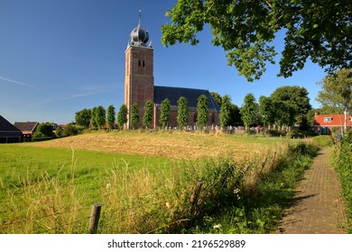
<path id="1" fill-rule="evenodd" d="M 238 107 L 231 103 L 228 95 L 221 97 L 218 93 L 211 93 L 220 107 L 219 121 L 224 128 L 227 125 L 235 125 L 240 121 Z M 177 102 L 177 123 L 179 129 L 183 129 L 189 123 L 189 105 L 186 97 L 181 96 Z M 164 99 L 161 104 L 161 115 L 159 123 L 164 129 L 169 125 L 171 112 L 171 101 Z M 85 128 L 102 129 L 107 126 L 108 129 L 114 129 L 115 125 L 119 129 L 123 129 L 127 122 L 127 107 L 125 104 L 121 105 L 116 116 L 116 109 L 114 105 L 109 105 L 107 110 L 103 106 L 97 106 L 92 109 L 83 109 L 76 112 L 75 120 L 79 126 Z M 197 125 L 199 129 L 208 125 L 209 101 L 208 96 L 201 94 L 197 103 Z M 130 128 L 136 129 L 140 123 L 138 104 L 134 103 L 131 108 Z M 142 124 L 145 129 L 151 128 L 153 122 L 153 102 L 148 101 L 144 105 L 144 115 Z"/>

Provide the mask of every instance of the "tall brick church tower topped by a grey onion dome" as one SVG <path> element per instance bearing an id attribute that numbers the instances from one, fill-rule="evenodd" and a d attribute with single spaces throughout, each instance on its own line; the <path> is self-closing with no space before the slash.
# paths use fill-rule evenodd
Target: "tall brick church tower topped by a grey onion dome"
<path id="1" fill-rule="evenodd" d="M 139 124 L 141 127 L 144 116 L 144 105 L 147 101 L 153 102 L 153 48 L 146 43 L 149 40 L 148 31 L 142 28 L 141 14 L 139 23 L 131 31 L 130 40 L 125 50 L 125 105 L 128 109 L 127 128 L 131 128 L 131 109 L 134 103 L 139 108 Z"/>

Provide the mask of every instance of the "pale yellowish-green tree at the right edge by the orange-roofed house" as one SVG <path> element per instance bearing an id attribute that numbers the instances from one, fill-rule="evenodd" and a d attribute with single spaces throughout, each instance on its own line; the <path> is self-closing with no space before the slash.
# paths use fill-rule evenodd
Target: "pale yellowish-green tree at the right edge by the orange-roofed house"
<path id="1" fill-rule="evenodd" d="M 319 84 L 322 90 L 316 98 L 323 107 L 331 112 L 342 114 L 344 129 L 347 128 L 347 113 L 352 109 L 352 70 L 339 69 L 335 75 L 326 76 Z"/>

